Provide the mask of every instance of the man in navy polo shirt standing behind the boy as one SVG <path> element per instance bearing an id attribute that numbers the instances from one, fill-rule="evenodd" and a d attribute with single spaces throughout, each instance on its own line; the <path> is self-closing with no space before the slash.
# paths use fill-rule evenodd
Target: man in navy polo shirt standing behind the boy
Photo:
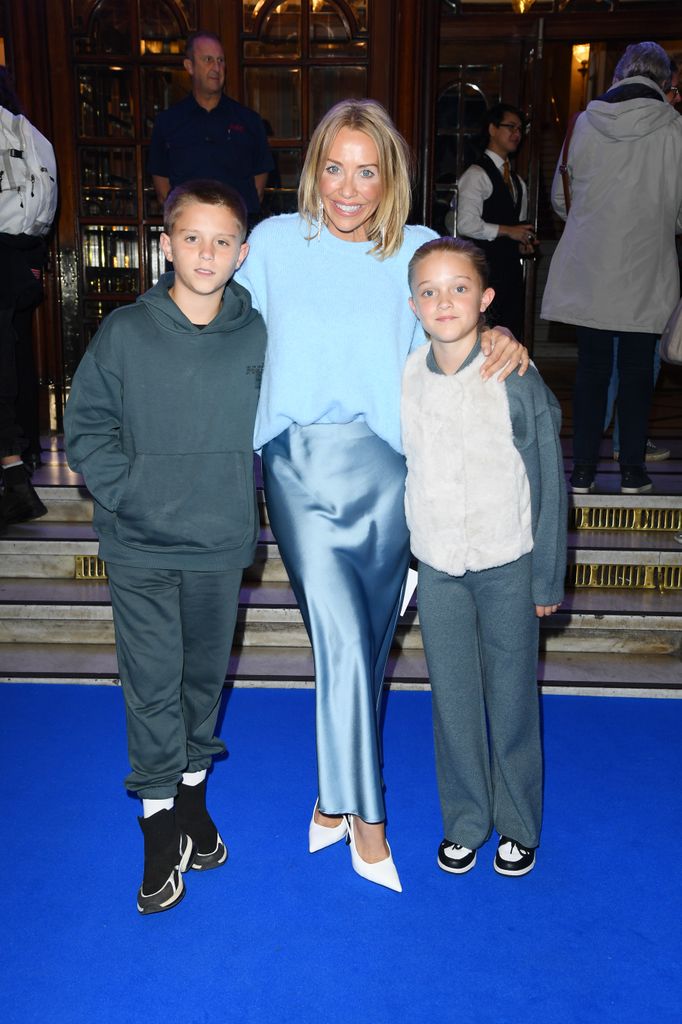
<path id="1" fill-rule="evenodd" d="M 263 122 L 223 92 L 225 54 L 212 32 L 187 37 L 184 69 L 191 95 L 162 111 L 152 133 L 148 170 L 159 202 L 183 181 L 215 178 L 241 194 L 253 222 L 274 166 Z"/>

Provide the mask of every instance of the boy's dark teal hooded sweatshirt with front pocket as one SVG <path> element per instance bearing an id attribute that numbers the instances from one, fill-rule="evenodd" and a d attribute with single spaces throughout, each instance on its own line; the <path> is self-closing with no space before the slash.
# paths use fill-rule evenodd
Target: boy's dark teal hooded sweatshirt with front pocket
<path id="1" fill-rule="evenodd" d="M 253 427 L 265 325 L 230 282 L 215 319 L 189 323 L 173 273 L 115 310 L 74 377 L 67 456 L 95 507 L 99 554 L 150 568 L 224 570 L 253 561 Z"/>

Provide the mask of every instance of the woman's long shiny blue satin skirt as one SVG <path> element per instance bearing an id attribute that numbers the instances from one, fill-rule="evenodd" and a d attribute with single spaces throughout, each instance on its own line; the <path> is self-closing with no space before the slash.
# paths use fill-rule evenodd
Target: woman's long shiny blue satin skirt
<path id="1" fill-rule="evenodd" d="M 319 809 L 383 821 L 381 696 L 410 561 L 404 459 L 360 421 L 293 425 L 262 456 L 314 654 Z"/>

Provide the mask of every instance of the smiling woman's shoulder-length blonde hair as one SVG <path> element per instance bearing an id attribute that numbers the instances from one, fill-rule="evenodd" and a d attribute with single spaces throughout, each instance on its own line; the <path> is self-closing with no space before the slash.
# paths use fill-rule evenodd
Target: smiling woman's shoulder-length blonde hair
<path id="1" fill-rule="evenodd" d="M 368 135 L 379 154 L 382 196 L 367 224 L 378 259 L 393 256 L 402 245 L 410 214 L 412 158 L 408 143 L 381 103 L 374 99 L 344 99 L 328 111 L 310 139 L 298 186 L 298 212 L 308 225 L 308 239 L 317 231 L 321 216 L 318 181 L 329 151 L 342 128 Z M 313 228 L 313 223 L 315 227 Z"/>

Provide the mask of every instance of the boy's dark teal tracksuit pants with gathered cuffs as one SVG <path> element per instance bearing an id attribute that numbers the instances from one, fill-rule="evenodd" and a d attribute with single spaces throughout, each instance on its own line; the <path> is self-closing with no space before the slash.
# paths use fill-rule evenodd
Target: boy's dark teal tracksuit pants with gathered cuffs
<path id="1" fill-rule="evenodd" d="M 194 572 L 108 563 L 126 705 L 126 786 L 174 797 L 185 771 L 224 752 L 215 735 L 242 569 Z"/>

